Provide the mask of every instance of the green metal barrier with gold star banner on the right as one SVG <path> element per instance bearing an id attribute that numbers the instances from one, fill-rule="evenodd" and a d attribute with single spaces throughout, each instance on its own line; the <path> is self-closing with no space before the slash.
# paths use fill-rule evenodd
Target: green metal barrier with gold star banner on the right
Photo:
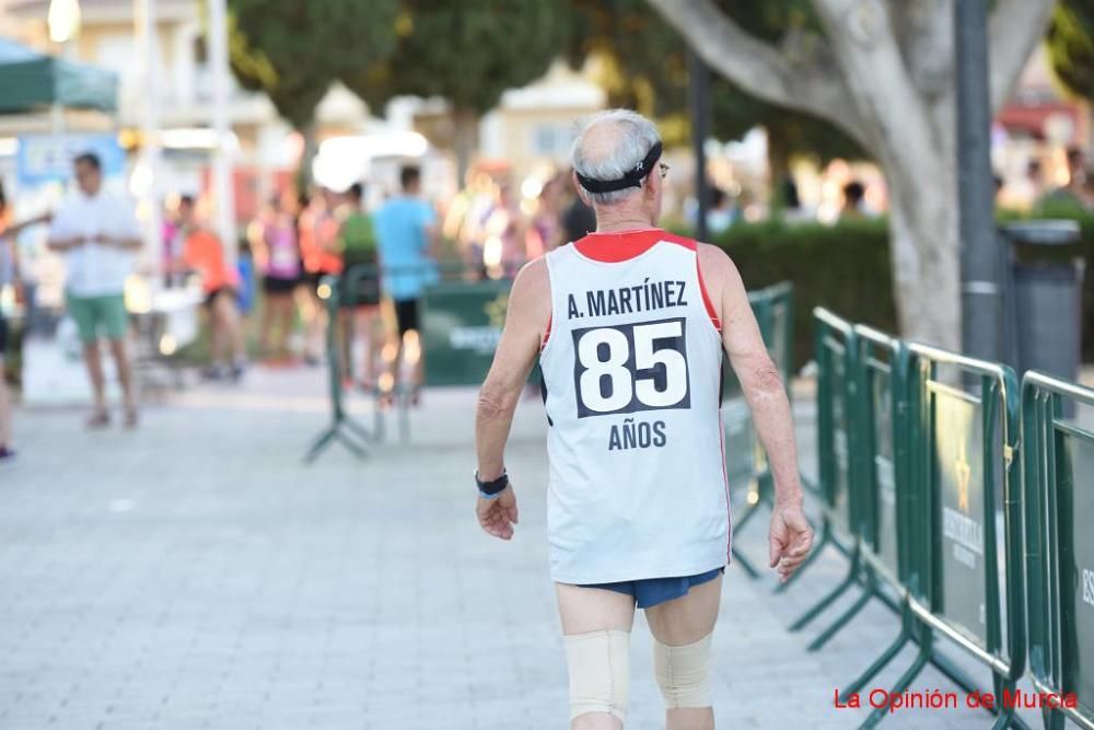
<path id="1" fill-rule="evenodd" d="M 918 626 L 919 651 L 892 692 L 905 692 L 929 662 L 969 690 L 973 683 L 936 651 L 935 635 L 956 644 L 991 671 L 996 697 L 1014 693 L 1025 664 L 1022 497 L 1017 485 L 1019 392 L 1006 366 L 974 360 L 924 345 L 910 345 L 909 477 L 923 496 L 908 524 L 917 543 L 913 560 L 922 580 L 907 586 Z M 939 367 L 967 384 L 939 376 Z M 1004 570 L 998 565 L 997 493 L 1003 499 Z M 918 557 L 916 556 L 918 554 Z M 916 572 L 909 573 L 915 576 Z M 1005 646 L 1003 610 L 1005 600 Z M 1013 707 L 1000 706 L 997 728 L 1025 727 Z M 875 710 L 862 727 L 886 716 Z"/>

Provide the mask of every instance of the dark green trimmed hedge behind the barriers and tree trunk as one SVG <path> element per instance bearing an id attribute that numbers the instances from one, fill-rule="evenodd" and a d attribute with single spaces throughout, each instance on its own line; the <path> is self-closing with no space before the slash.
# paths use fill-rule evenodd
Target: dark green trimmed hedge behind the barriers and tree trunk
<path id="1" fill-rule="evenodd" d="M 1085 257 L 1083 360 L 1094 361 L 1094 215 L 1070 208 L 1045 209 L 1039 217 L 1078 220 Z M 1001 216 L 1001 220 L 1016 217 Z M 794 285 L 795 368 L 813 355 L 814 306 L 830 309 L 852 322 L 898 334 L 886 221 L 848 221 L 836 225 L 788 225 L 779 221 L 736 225 L 714 240 L 736 263 L 748 289 L 777 281 Z M 1067 255 L 1073 255 L 1073 251 Z"/>

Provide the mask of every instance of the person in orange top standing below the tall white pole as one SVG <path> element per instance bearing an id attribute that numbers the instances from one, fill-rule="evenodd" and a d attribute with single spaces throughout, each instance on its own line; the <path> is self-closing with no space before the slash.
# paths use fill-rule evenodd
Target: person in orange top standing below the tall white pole
<path id="1" fill-rule="evenodd" d="M 178 217 L 184 243 L 177 266 L 201 277 L 212 332 L 212 363 L 205 374 L 212 380 L 238 380 L 243 374 L 243 327 L 236 301 L 240 275 L 224 259 L 217 234 L 201 225 L 191 196 L 179 199 Z"/>

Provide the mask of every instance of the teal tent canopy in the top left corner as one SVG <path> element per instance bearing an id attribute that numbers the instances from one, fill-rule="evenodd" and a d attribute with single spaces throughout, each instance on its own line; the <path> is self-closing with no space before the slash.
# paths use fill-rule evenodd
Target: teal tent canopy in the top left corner
<path id="1" fill-rule="evenodd" d="M 117 77 L 0 37 L 0 114 L 40 112 L 55 104 L 114 112 L 118 106 Z"/>

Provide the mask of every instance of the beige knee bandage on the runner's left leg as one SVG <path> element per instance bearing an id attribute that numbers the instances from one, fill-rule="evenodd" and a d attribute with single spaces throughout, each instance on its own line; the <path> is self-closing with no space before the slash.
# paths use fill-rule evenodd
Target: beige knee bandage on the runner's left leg
<path id="1" fill-rule="evenodd" d="M 570 720 L 585 712 L 627 716 L 630 631 L 603 629 L 563 636 L 570 671 Z"/>

